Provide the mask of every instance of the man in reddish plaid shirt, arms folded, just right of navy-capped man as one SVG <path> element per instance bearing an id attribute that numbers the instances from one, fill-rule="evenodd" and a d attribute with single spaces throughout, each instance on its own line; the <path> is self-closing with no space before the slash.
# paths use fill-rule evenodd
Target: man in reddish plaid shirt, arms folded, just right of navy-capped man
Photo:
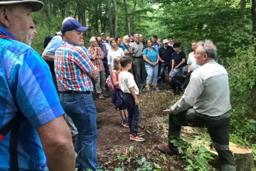
<path id="1" fill-rule="evenodd" d="M 104 56 L 101 48 L 97 47 L 97 40 L 95 38 L 90 39 L 90 47 L 88 48 L 88 52 L 91 56 L 92 63 L 98 69 L 98 76 L 94 79 L 98 97 L 99 99 L 104 99 L 104 97 L 108 97 L 107 93 L 105 92 L 106 76 L 103 65 Z"/>

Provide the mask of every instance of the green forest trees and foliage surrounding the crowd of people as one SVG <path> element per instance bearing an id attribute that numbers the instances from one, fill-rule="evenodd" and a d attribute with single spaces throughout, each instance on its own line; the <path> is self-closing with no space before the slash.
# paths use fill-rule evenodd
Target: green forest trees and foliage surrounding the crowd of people
<path id="1" fill-rule="evenodd" d="M 101 32 L 109 37 L 141 33 L 145 40 L 152 35 L 157 35 L 162 40 L 173 36 L 181 42 L 186 55 L 191 52 L 192 41 L 212 40 L 218 49 L 218 62 L 229 74 L 232 104 L 229 141 L 242 148 L 252 149 L 254 165 L 256 164 L 256 0 L 42 2 L 45 4 L 44 9 L 32 14 L 37 30 L 32 48 L 39 54 L 44 50 L 45 37 L 60 31 L 62 21 L 67 16 L 72 16 L 89 27 L 89 31 L 84 32 L 86 47 L 90 37 L 99 36 Z M 193 155 L 197 156 L 196 153 Z M 204 158 L 210 159 L 207 156 Z M 121 159 L 127 161 L 127 156 Z M 142 159 L 144 162 L 144 158 Z M 141 160 L 138 162 L 143 163 Z M 204 164 L 197 164 L 195 167 L 195 163 L 196 161 L 185 158 L 187 170 L 207 170 Z M 114 166 L 120 170 L 122 168 L 121 165 Z"/>

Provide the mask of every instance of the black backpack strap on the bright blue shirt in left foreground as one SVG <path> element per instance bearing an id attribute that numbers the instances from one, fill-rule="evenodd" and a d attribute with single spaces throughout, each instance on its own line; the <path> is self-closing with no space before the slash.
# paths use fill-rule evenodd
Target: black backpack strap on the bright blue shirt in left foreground
<path id="1" fill-rule="evenodd" d="M 4 136 L 11 131 L 10 138 L 10 167 L 11 171 L 19 171 L 18 165 L 18 142 L 19 142 L 19 132 L 20 132 L 20 124 L 24 120 L 24 115 L 19 112 L 8 122 L 6 125 L 0 129 L 0 143 L 3 140 Z"/>

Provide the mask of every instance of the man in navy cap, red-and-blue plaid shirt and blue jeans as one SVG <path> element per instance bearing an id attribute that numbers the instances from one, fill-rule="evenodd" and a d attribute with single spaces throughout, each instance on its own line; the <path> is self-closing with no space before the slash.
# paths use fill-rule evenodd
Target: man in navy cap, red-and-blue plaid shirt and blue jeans
<path id="1" fill-rule="evenodd" d="M 56 50 L 54 60 L 61 105 L 78 129 L 75 167 L 79 171 L 100 168 L 96 155 L 96 107 L 91 94 L 91 78 L 98 76 L 98 69 L 81 47 L 82 31 L 86 30 L 88 28 L 75 19 L 65 21 L 61 29 L 63 42 Z"/>

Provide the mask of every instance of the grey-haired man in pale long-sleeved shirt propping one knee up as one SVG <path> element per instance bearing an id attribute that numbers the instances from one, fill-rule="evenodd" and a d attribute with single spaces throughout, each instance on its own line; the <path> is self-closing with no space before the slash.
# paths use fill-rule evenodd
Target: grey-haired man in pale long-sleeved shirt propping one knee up
<path id="1" fill-rule="evenodd" d="M 201 65 L 190 77 L 184 95 L 169 109 L 168 144 L 159 151 L 177 155 L 172 140 L 180 137 L 182 126 L 206 127 L 218 152 L 222 170 L 236 170 L 234 156 L 229 150 L 228 73 L 215 62 L 217 48 L 210 40 L 198 42 L 195 61 Z"/>

